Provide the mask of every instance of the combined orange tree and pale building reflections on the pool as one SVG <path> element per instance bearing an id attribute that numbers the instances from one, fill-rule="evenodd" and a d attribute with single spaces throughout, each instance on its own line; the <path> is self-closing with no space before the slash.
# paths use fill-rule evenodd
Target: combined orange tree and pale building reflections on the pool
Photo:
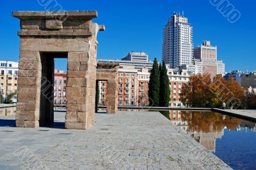
<path id="1" fill-rule="evenodd" d="M 255 124 L 239 118 L 234 118 L 211 111 L 161 111 L 166 116 L 170 115 L 173 124 L 179 127 L 180 131 L 188 133 L 198 143 L 216 152 L 216 139 L 224 135 L 224 129 L 228 131 L 251 129 L 256 131 Z"/>

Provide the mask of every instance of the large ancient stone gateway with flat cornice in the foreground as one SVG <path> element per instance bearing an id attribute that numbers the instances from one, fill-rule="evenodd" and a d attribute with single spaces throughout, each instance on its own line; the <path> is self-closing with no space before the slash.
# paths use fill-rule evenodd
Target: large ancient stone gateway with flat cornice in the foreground
<path id="1" fill-rule="evenodd" d="M 14 11 L 20 19 L 17 127 L 53 124 L 54 58 L 67 58 L 67 129 L 95 122 L 97 11 Z M 113 72 L 115 73 L 115 71 Z M 102 79 L 103 74 L 99 73 Z M 115 78 L 109 113 L 116 113 Z"/>

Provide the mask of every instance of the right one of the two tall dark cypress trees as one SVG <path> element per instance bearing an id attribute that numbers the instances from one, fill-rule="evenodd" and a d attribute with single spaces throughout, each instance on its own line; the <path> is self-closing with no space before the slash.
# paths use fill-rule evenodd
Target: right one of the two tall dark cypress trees
<path id="1" fill-rule="evenodd" d="M 160 71 L 159 105 L 168 107 L 170 102 L 170 81 L 169 81 L 169 77 L 168 77 L 168 73 L 167 73 L 167 69 L 164 61 L 159 71 Z"/>

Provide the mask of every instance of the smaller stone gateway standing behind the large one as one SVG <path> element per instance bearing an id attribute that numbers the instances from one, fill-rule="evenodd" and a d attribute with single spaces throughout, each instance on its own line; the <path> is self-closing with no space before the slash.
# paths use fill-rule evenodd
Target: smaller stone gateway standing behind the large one
<path id="1" fill-rule="evenodd" d="M 118 81 L 119 64 L 106 63 L 97 66 L 97 81 L 108 81 L 107 113 L 115 114 L 118 111 Z"/>

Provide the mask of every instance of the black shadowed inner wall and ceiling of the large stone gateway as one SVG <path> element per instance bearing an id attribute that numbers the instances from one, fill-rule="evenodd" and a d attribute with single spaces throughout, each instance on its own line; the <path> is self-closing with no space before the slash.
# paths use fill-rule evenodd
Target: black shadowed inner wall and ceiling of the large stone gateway
<path id="1" fill-rule="evenodd" d="M 42 65 L 41 84 L 40 84 L 40 112 L 39 126 L 54 124 L 54 97 L 56 85 L 54 85 L 54 59 L 67 59 L 67 52 L 40 52 Z M 60 82 L 58 82 L 60 83 Z M 62 82 L 63 83 L 63 82 Z"/>

